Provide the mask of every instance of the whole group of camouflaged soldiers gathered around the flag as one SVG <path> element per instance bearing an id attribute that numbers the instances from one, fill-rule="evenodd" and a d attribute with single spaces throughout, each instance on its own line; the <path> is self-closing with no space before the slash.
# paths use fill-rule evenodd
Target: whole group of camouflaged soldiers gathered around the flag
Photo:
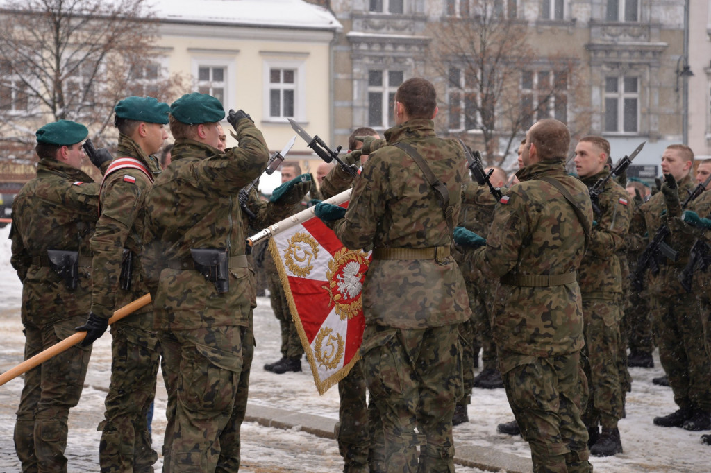
<path id="1" fill-rule="evenodd" d="M 152 304 L 112 325 L 102 472 L 152 471 L 159 366 L 169 393 L 164 471 L 237 471 L 255 256 L 282 335 L 282 357 L 264 369 L 301 371 L 303 354 L 274 261 L 250 255 L 245 237 L 304 205 L 348 248 L 374 249 L 363 358 L 338 386 L 345 472 L 453 471 L 452 425 L 468 420 L 474 387 L 506 388 L 515 419 L 498 430 L 523 436 L 536 472 L 590 471 L 588 455 L 622 452 L 627 367 L 653 366 L 655 347 L 666 373 L 655 382 L 673 389 L 679 409 L 653 423 L 711 430 L 711 161 L 693 178 L 687 146 L 665 149 L 653 186 L 611 173 L 599 136 L 577 142 L 570 172 L 570 133 L 542 120 L 520 144 L 518 172 L 491 168 L 487 184 L 471 179 L 464 143 L 434 134 L 434 88 L 415 78 L 398 89 L 385 138 L 355 130 L 344 165 L 319 166 L 318 188 L 287 161 L 264 200 L 250 184 L 269 152 L 245 112 L 228 114 L 233 148 L 223 106 L 207 94 L 170 106 L 128 97 L 114 112 L 116 158 L 82 148 L 81 124 L 39 129 L 37 177 L 14 201 L 26 358 L 86 332 L 25 375 L 14 431 L 23 471 L 66 471 L 68 411 L 91 344 L 114 310 L 146 293 Z M 79 169 L 82 149 L 100 183 Z M 414 182 L 429 191 L 413 192 Z M 321 202 L 351 186 L 348 210 Z M 240 189 L 250 192 L 237 200 Z"/>

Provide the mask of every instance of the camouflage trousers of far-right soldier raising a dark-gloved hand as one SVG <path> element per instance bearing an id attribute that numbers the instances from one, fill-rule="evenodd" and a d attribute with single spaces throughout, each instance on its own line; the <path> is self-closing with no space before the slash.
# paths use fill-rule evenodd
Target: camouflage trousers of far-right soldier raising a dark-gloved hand
<path id="1" fill-rule="evenodd" d="M 698 300 L 688 294 L 653 295 L 659 359 L 680 408 L 711 412 L 711 362 Z"/>

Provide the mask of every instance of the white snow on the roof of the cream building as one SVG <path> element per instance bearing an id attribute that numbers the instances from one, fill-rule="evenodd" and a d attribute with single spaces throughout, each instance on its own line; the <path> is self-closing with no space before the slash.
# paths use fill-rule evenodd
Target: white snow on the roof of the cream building
<path id="1" fill-rule="evenodd" d="M 303 0 L 149 0 L 149 5 L 157 19 L 166 21 L 343 28 L 328 9 Z"/>

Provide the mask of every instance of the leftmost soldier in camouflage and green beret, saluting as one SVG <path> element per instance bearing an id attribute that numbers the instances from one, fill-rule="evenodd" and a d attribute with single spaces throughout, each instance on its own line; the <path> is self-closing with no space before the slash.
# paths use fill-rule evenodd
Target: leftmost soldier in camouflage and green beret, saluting
<path id="1" fill-rule="evenodd" d="M 85 126 L 66 120 L 39 129 L 37 177 L 12 205 L 10 261 L 23 283 L 25 359 L 72 335 L 91 303 L 89 238 L 98 217 L 99 185 L 80 170 L 80 142 L 87 134 Z M 102 170 L 110 159 L 105 156 L 95 161 Z M 77 251 L 76 273 L 70 274 L 72 265 L 62 265 L 68 278 L 59 276 L 48 249 Z M 14 433 L 23 472 L 67 471 L 67 418 L 79 402 L 90 354 L 91 347 L 75 345 L 25 374 Z"/>

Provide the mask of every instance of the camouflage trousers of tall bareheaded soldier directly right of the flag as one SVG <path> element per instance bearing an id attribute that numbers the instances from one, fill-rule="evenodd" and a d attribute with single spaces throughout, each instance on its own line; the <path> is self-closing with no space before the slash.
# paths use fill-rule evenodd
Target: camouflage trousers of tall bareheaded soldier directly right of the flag
<path id="1" fill-rule="evenodd" d="M 464 393 L 459 325 L 366 325 L 360 353 L 382 422 L 382 430 L 375 427 L 382 437 L 372 445 L 373 457 L 384 459 L 383 471 L 454 472 L 451 418 Z"/>

